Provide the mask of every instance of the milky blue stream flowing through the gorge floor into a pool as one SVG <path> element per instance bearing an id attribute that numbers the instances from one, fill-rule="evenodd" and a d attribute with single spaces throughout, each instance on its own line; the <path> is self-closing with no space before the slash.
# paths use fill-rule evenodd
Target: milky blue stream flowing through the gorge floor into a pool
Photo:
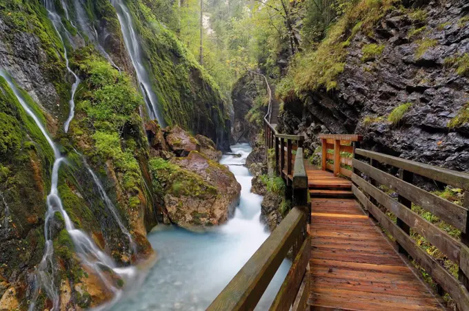
<path id="1" fill-rule="evenodd" d="M 159 253 L 159 261 L 143 286 L 134 288 L 112 310 L 205 310 L 267 239 L 269 233 L 259 219 L 262 197 L 250 192 L 252 176 L 242 166 L 251 149 L 248 144 L 231 148 L 241 158 L 223 156 L 221 164 L 228 164 L 241 184 L 234 217 L 203 234 L 157 226 L 148 239 Z M 284 261 L 257 309 L 268 310 L 289 267 L 290 262 Z"/>

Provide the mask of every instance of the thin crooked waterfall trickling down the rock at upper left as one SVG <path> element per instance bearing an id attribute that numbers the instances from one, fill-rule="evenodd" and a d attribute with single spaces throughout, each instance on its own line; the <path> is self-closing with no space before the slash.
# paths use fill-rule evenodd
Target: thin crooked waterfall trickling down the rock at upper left
<path id="1" fill-rule="evenodd" d="M 81 81 L 78 78 L 77 74 L 75 74 L 70 68 L 70 62 L 68 61 L 68 54 L 67 54 L 67 48 L 65 46 L 65 41 L 63 40 L 63 37 L 59 30 L 63 30 L 64 32 L 66 32 L 70 43 L 72 43 L 73 40 L 71 39 L 70 34 L 68 33 L 65 26 L 63 25 L 61 17 L 59 16 L 59 14 L 57 14 L 57 12 L 55 12 L 54 3 L 52 3 L 50 0 L 44 0 L 44 6 L 46 7 L 46 10 L 48 11 L 49 19 L 50 21 L 52 21 L 52 25 L 54 25 L 54 29 L 57 32 L 57 35 L 59 36 L 60 41 L 62 42 L 63 55 L 65 56 L 67 71 L 73 76 L 75 80 L 74 83 L 72 84 L 72 90 L 70 92 L 70 100 L 68 101 L 68 105 L 70 107 L 70 113 L 68 114 L 68 118 L 63 125 L 65 132 L 67 133 L 68 127 L 70 127 L 70 122 L 72 122 L 74 114 L 75 114 L 75 101 L 74 101 L 75 92 L 77 92 L 78 85 L 80 84 Z M 66 7 L 64 7 L 64 10 L 66 12 L 66 15 L 68 16 L 68 10 L 66 9 Z"/>

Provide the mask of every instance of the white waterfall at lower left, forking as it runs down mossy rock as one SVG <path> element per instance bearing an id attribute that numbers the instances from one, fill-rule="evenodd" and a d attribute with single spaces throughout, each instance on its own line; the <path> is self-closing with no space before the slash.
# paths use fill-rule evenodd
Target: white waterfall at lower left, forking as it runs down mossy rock
<path id="1" fill-rule="evenodd" d="M 35 280 L 36 283 L 36 293 L 39 291 L 39 287 L 42 288 L 49 299 L 52 301 L 52 310 L 58 310 L 59 308 L 59 293 L 57 292 L 56 286 L 54 286 L 54 272 L 55 266 L 52 261 L 52 255 L 54 254 L 54 246 L 52 244 L 52 237 L 51 228 L 50 228 L 50 220 L 54 217 L 55 213 L 60 213 L 63 221 L 65 222 L 65 228 L 70 235 L 72 242 L 74 244 L 75 253 L 78 255 L 79 259 L 81 259 L 81 263 L 88 266 L 92 272 L 96 273 L 103 281 L 103 283 L 114 293 L 114 300 L 119 299 L 121 296 L 121 290 L 116 288 L 114 284 L 111 283 L 110 279 L 106 277 L 105 272 L 106 270 L 113 270 L 115 273 L 123 277 L 123 279 L 130 279 L 134 277 L 135 272 L 134 268 L 117 268 L 114 264 L 114 261 L 103 253 L 86 235 L 83 231 L 74 228 L 68 213 L 63 209 L 61 199 L 59 197 L 59 190 L 57 188 L 59 182 L 59 169 L 61 163 L 65 161 L 65 158 L 61 155 L 59 148 L 53 142 L 52 138 L 50 138 L 46 128 L 42 125 L 39 118 L 34 114 L 32 109 L 26 103 L 26 100 L 23 98 L 21 92 L 17 86 L 13 83 L 12 79 L 6 72 L 0 70 L 0 76 L 3 77 L 6 82 L 8 83 L 10 89 L 17 97 L 21 107 L 26 111 L 26 114 L 30 116 L 34 122 L 39 127 L 41 133 L 46 138 L 48 144 L 52 151 L 54 151 L 54 165 L 52 166 L 52 176 L 51 176 L 51 183 L 50 183 L 50 193 L 47 197 L 47 212 L 45 217 L 45 224 L 44 224 L 44 237 L 46 240 L 46 249 L 44 250 L 43 257 L 39 266 L 37 266 Z M 36 297 L 37 298 L 37 294 Z M 34 310 L 35 308 L 35 299 L 33 299 L 30 310 Z"/>

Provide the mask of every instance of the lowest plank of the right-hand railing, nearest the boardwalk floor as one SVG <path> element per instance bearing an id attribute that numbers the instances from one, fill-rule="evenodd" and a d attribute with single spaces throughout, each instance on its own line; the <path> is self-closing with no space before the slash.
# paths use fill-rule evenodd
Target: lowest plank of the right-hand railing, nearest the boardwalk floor
<path id="1" fill-rule="evenodd" d="M 469 310 L 469 292 L 464 288 L 463 284 L 457 281 L 450 272 L 445 270 L 445 268 L 428 255 L 425 250 L 416 246 L 415 241 L 399 228 L 397 224 L 392 222 L 375 204 L 372 204 L 370 200 L 366 202 L 366 206 L 379 224 L 388 230 L 388 232 L 395 237 L 397 242 L 407 250 L 409 255 L 412 256 L 412 259 L 425 269 L 426 272 L 440 284 L 443 290 L 450 294 L 452 299 L 457 303 L 459 310 Z"/>

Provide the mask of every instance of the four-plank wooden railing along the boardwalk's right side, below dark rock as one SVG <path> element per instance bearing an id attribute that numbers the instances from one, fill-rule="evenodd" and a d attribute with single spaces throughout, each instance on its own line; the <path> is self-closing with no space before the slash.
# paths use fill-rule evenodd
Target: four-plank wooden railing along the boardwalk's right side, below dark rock
<path id="1" fill-rule="evenodd" d="M 438 284 L 440 294 L 447 292 L 457 303 L 459 310 L 469 310 L 469 174 L 363 149 L 356 149 L 355 155 L 356 158 L 352 160 L 354 167 L 352 191 L 359 202 L 363 204 L 370 216 L 374 217 L 396 239 L 399 251 L 410 255 L 432 277 Z M 368 160 L 363 162 L 358 158 L 367 158 L 370 164 Z M 388 169 L 389 167 L 399 169 L 399 178 L 383 171 L 383 164 L 386 164 Z M 465 191 L 463 206 L 415 186 L 413 184 L 415 174 L 463 189 Z M 365 175 L 370 181 L 364 178 Z M 379 189 L 380 184 L 398 193 L 398 200 L 394 200 Z M 461 239 L 452 237 L 446 233 L 446 230 L 441 230 L 439 226 L 415 213 L 412 210 L 412 203 L 421 206 L 446 224 L 461 230 Z M 397 222 L 390 219 L 378 206 L 394 214 Z M 410 228 L 459 266 L 459 280 L 416 244 L 415 240 L 410 237 Z"/>

